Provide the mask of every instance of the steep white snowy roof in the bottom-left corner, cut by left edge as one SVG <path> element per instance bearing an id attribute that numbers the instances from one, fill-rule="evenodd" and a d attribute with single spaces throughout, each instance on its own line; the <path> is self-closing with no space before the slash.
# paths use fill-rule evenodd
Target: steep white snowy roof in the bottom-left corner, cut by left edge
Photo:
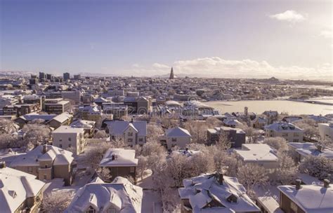
<path id="1" fill-rule="evenodd" d="M 0 212 L 15 212 L 27 198 L 36 196 L 44 185 L 32 174 L 9 167 L 0 168 Z"/>

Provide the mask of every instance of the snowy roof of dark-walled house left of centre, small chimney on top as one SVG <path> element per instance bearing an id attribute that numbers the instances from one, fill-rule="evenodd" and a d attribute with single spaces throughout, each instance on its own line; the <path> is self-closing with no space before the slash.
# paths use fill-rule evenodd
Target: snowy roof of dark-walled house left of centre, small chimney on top
<path id="1" fill-rule="evenodd" d="M 133 149 L 108 149 L 100 160 L 100 167 L 130 167 L 137 166 L 136 151 Z"/>

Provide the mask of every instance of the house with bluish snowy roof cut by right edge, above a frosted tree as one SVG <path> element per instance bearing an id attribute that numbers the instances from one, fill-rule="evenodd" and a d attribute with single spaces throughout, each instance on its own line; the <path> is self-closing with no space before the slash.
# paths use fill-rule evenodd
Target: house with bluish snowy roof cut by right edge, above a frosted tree
<path id="1" fill-rule="evenodd" d="M 307 156 L 321 156 L 333 160 L 333 150 L 320 144 L 316 145 L 311 142 L 288 143 L 288 146 L 298 154 L 296 157 L 298 162 L 303 161 Z"/>

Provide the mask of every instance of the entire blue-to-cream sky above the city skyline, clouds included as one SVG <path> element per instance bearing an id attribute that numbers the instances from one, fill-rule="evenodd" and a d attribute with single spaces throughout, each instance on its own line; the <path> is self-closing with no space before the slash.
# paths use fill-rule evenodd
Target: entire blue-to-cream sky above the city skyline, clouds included
<path id="1" fill-rule="evenodd" d="M 0 71 L 332 79 L 332 1 L 0 0 Z"/>

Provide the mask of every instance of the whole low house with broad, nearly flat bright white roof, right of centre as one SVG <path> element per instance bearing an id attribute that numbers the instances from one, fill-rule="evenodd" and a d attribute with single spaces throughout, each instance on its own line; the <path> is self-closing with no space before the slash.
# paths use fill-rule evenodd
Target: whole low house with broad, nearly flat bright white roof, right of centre
<path id="1" fill-rule="evenodd" d="M 279 167 L 275 149 L 267 144 L 242 144 L 242 149 L 235 149 L 243 163 L 253 163 L 266 169 Z"/>

